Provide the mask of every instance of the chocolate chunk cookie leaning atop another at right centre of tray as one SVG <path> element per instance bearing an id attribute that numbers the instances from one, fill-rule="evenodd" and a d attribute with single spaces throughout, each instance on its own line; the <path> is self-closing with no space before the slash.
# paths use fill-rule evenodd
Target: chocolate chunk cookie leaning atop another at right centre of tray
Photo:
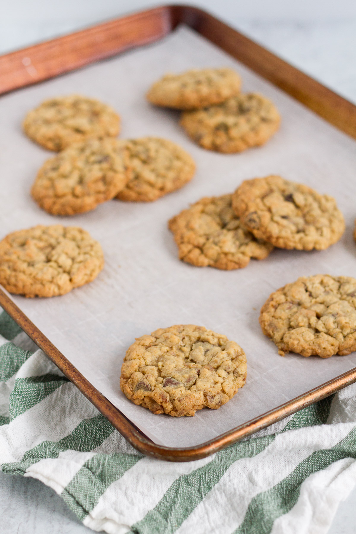
<path id="1" fill-rule="evenodd" d="M 275 247 L 323 250 L 345 230 L 333 197 L 280 176 L 245 180 L 233 194 L 232 205 L 250 232 Z"/>

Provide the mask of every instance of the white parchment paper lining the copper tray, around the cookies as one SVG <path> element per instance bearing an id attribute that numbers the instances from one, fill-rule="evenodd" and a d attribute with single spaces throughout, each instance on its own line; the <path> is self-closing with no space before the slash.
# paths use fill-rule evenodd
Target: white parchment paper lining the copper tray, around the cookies
<path id="1" fill-rule="evenodd" d="M 178 113 L 149 105 L 144 94 L 163 73 L 230 66 L 244 91 L 260 91 L 280 109 L 281 129 L 264 147 L 224 155 L 194 145 Z M 37 169 L 50 156 L 21 133 L 26 112 L 44 98 L 83 93 L 122 116 L 121 137 L 161 136 L 197 164 L 191 183 L 153 203 L 107 202 L 91 213 L 53 217 L 31 200 Z M 270 293 L 299 276 L 356 276 L 356 143 L 186 27 L 163 41 L 0 98 L 0 238 L 36 224 L 82 226 L 98 239 L 106 265 L 91 284 L 52 299 L 14 302 L 77 369 L 157 444 L 193 446 L 303 394 L 356 366 L 356 355 L 329 359 L 278 355 L 258 324 Z M 336 245 L 322 252 L 274 250 L 245 269 L 195 268 L 177 258 L 167 220 L 199 198 L 232 192 L 243 179 L 280 174 L 334 195 L 346 219 Z M 219 410 L 194 418 L 154 415 L 120 391 L 126 349 L 135 337 L 173 324 L 204 325 L 246 351 L 246 386 Z"/>

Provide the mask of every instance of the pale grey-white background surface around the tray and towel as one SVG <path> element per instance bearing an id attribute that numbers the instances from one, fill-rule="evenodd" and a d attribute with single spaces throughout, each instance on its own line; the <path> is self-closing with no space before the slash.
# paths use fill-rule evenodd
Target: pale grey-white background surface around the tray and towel
<path id="1" fill-rule="evenodd" d="M 356 103 L 355 0 L 193 3 Z M 151 0 L 0 0 L 0 54 L 157 4 Z M 31 478 L 0 473 L 0 509 L 2 534 L 91 532 L 53 490 Z M 339 506 L 329 534 L 354 534 L 355 519 L 356 490 Z"/>

